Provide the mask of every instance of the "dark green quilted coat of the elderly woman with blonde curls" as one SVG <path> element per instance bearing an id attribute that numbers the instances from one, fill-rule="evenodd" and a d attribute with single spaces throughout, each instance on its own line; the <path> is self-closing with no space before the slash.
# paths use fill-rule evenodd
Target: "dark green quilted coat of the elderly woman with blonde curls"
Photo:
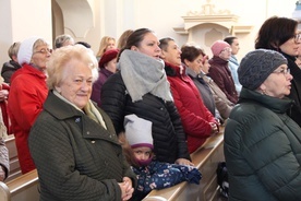
<path id="1" fill-rule="evenodd" d="M 118 182 L 128 176 L 135 184 L 111 120 L 99 111 L 108 130 L 49 92 L 29 134 L 40 200 L 121 200 Z"/>

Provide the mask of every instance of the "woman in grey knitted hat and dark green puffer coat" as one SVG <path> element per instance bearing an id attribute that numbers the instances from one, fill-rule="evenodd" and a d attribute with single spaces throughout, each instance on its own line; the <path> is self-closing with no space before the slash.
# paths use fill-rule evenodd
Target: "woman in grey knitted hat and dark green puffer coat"
<path id="1" fill-rule="evenodd" d="M 286 114 L 292 75 L 279 52 L 253 50 L 238 69 L 239 102 L 225 128 L 229 201 L 301 198 L 301 132 Z"/>

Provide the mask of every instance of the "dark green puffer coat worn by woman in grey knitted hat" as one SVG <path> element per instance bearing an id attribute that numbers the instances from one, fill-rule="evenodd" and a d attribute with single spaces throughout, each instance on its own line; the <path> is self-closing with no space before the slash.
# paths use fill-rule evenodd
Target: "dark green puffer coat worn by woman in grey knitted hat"
<path id="1" fill-rule="evenodd" d="M 301 130 L 286 115 L 291 104 L 242 88 L 225 128 L 229 201 L 301 200 Z"/>

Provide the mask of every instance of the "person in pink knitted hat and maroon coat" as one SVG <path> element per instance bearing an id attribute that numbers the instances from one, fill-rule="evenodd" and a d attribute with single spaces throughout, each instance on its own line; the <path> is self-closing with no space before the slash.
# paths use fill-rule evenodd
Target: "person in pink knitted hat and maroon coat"
<path id="1" fill-rule="evenodd" d="M 219 86 L 226 94 L 227 98 L 236 104 L 238 100 L 238 92 L 228 67 L 231 57 L 231 47 L 224 40 L 216 40 L 212 45 L 213 58 L 209 60 L 210 69 L 208 76 Z"/>

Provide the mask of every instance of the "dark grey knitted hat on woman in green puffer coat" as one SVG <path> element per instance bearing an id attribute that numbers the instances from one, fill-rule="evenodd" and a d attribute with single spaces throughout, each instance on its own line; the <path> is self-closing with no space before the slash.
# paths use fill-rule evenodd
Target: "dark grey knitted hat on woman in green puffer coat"
<path id="1" fill-rule="evenodd" d="M 239 82 L 245 88 L 256 90 L 275 69 L 287 63 L 287 59 L 274 50 L 250 51 L 238 68 Z"/>

